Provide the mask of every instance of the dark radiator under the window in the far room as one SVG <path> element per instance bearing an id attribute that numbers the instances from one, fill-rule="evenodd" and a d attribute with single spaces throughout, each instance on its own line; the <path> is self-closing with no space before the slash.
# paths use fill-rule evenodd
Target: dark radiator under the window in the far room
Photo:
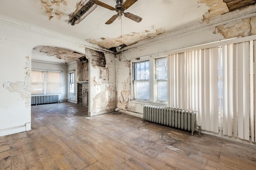
<path id="1" fill-rule="evenodd" d="M 31 105 L 51 104 L 51 103 L 58 103 L 58 102 L 59 102 L 59 96 L 56 94 L 31 96 Z"/>

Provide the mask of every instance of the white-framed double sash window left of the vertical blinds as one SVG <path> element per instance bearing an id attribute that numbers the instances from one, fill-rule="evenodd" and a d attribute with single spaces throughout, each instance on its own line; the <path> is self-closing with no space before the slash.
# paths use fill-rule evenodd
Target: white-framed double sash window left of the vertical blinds
<path id="1" fill-rule="evenodd" d="M 167 103 L 167 72 L 167 57 L 134 62 L 134 99 Z"/>

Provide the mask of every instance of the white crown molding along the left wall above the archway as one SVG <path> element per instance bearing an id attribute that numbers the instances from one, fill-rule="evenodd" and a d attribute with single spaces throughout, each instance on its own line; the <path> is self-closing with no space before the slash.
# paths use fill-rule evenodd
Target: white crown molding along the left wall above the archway
<path id="1" fill-rule="evenodd" d="M 13 27 L 15 29 L 20 29 L 22 31 L 26 31 L 26 32 L 29 32 L 29 33 L 33 33 L 33 34 L 37 34 L 37 35 L 43 35 L 43 36 L 46 36 L 46 37 L 58 39 L 58 40 L 65 41 L 65 42 L 68 42 L 70 44 L 76 45 L 78 47 L 89 48 L 89 49 L 93 49 L 93 50 L 96 50 L 96 51 L 101 51 L 101 52 L 112 53 L 113 54 L 113 51 L 110 51 L 110 50 L 108 50 L 104 47 L 101 47 L 99 45 L 89 43 L 85 40 L 78 39 L 78 38 L 75 38 L 75 37 L 72 37 L 72 36 L 64 35 L 62 33 L 58 33 L 56 31 L 52 31 L 50 29 L 46 29 L 46 28 L 39 27 L 39 26 L 30 24 L 30 23 L 26 23 L 24 21 L 16 20 L 14 18 L 10 18 L 10 17 L 4 16 L 4 15 L 0 15 L 0 25 Z"/>

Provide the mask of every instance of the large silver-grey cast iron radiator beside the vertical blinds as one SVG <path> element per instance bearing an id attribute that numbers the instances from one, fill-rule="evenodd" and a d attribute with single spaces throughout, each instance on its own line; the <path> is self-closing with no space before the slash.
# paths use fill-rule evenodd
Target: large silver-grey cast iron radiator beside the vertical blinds
<path id="1" fill-rule="evenodd" d="M 172 107 L 144 105 L 143 120 L 177 129 L 196 131 L 196 112 Z"/>

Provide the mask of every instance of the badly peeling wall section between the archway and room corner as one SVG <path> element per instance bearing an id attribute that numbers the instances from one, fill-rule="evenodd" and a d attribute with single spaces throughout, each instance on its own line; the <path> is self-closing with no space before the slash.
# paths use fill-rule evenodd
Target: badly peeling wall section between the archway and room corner
<path id="1" fill-rule="evenodd" d="M 108 113 L 116 108 L 116 62 L 113 54 L 104 53 L 106 67 L 89 64 L 89 116 Z M 94 57 L 86 49 L 86 57 L 92 61 Z"/>

